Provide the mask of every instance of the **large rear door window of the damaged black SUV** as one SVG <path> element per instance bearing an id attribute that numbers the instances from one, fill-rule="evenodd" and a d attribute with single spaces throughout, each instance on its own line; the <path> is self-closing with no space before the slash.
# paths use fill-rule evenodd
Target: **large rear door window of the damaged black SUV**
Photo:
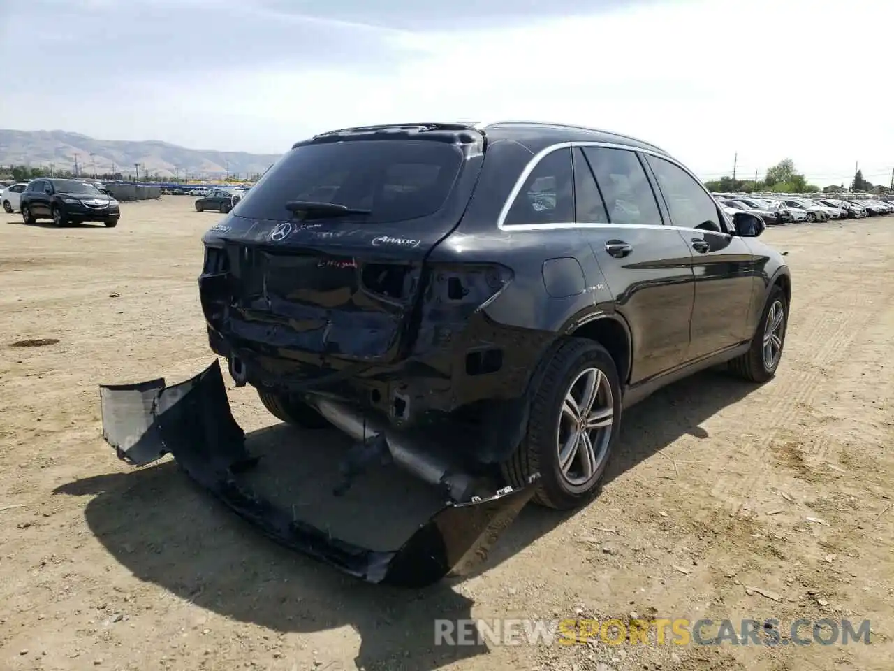
<path id="1" fill-rule="evenodd" d="M 662 224 L 654 191 L 634 152 L 587 147 L 584 155 L 602 191 L 612 224 Z"/>

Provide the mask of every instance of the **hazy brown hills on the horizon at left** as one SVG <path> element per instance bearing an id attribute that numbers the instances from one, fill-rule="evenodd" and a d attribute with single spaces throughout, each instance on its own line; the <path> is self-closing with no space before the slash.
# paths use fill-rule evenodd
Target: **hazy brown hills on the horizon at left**
<path id="1" fill-rule="evenodd" d="M 0 130 L 0 166 L 49 166 L 71 170 L 77 156 L 82 174 L 133 172 L 167 177 L 248 177 L 263 173 L 279 155 L 249 154 L 245 151 L 186 149 L 157 140 L 95 140 L 65 131 Z"/>

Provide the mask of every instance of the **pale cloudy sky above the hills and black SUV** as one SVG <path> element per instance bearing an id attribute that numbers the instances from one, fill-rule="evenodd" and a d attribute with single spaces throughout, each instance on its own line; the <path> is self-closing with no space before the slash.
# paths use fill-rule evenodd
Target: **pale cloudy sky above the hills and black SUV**
<path id="1" fill-rule="evenodd" d="M 703 179 L 789 157 L 820 186 L 857 162 L 888 184 L 892 30 L 890 0 L 0 0 L 0 128 L 279 153 L 350 125 L 537 120 Z"/>

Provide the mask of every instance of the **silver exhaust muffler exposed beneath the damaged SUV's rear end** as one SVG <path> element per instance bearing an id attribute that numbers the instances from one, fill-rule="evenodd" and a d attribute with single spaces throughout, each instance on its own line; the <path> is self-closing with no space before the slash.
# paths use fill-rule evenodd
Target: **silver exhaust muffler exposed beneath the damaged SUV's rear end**
<path id="1" fill-rule="evenodd" d="M 445 488 L 454 501 L 463 503 L 472 498 L 474 479 L 468 473 L 458 471 L 456 465 L 444 455 L 434 454 L 432 450 L 412 444 L 408 437 L 371 424 L 370 420 L 344 403 L 319 396 L 308 397 L 308 403 L 335 428 L 355 440 L 366 443 L 383 436 L 394 463 L 434 487 Z"/>

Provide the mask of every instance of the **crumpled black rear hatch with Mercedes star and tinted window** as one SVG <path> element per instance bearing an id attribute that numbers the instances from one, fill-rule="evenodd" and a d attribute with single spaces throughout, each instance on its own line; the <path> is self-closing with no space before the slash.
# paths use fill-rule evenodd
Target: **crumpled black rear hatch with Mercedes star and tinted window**
<path id="1" fill-rule="evenodd" d="M 296 144 L 204 238 L 209 324 L 281 357 L 400 359 L 426 257 L 459 224 L 483 160 L 480 133 L 443 124 Z"/>

